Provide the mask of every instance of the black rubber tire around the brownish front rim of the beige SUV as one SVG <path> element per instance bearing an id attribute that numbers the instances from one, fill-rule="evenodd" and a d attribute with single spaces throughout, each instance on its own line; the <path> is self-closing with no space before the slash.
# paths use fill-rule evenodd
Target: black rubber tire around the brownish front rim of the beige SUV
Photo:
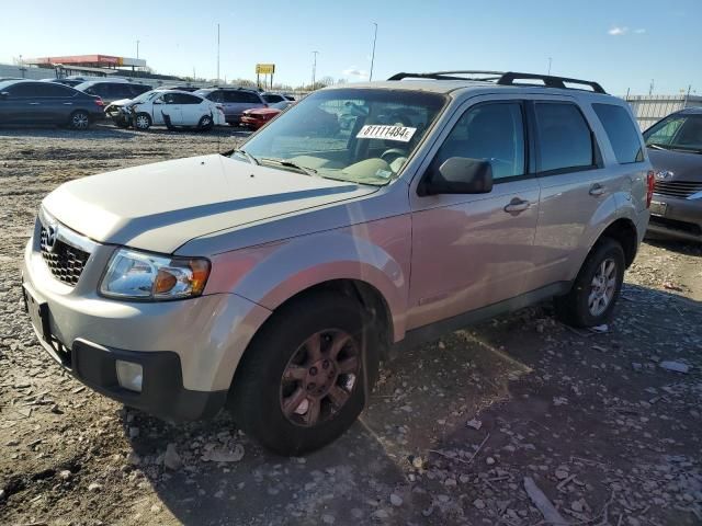
<path id="1" fill-rule="evenodd" d="M 370 393 L 377 378 L 377 352 L 375 348 L 369 348 L 366 342 L 370 341 L 367 334 L 371 331 L 369 328 L 364 329 L 364 319 L 358 301 L 328 291 L 294 299 L 278 310 L 254 336 L 237 369 L 229 397 L 229 408 L 237 425 L 268 449 L 285 456 L 313 451 L 333 442 L 346 432 L 363 410 L 366 393 Z M 291 367 L 301 350 L 306 348 L 304 342 L 313 334 L 324 333 L 329 329 L 351 336 L 350 348 L 359 351 L 358 374 L 351 375 L 354 377 L 353 387 L 347 391 L 346 402 L 336 411 L 332 409 L 333 397 L 327 395 L 328 398 L 320 402 L 322 409 L 318 412 L 320 420 L 316 424 L 294 422 L 295 419 L 306 420 L 307 416 L 297 412 L 288 416 L 284 414 L 284 400 L 294 398 L 294 395 L 290 395 L 288 399 L 283 398 L 288 386 L 286 382 L 297 380 L 283 380 L 283 373 Z M 325 354 L 321 356 L 330 356 L 330 347 L 325 351 L 324 341 L 322 336 L 320 350 Z M 346 352 L 342 351 L 339 355 Z M 335 361 L 337 366 L 341 363 Z M 309 371 L 314 367 L 306 369 L 307 366 L 301 368 L 305 369 L 307 378 L 310 378 Z M 321 378 L 321 381 L 329 381 L 337 387 L 348 387 L 348 384 L 344 384 L 348 381 L 343 378 L 344 375 L 339 373 L 333 380 L 326 380 L 325 374 L 319 368 L 319 377 L 315 378 Z M 293 390 L 302 391 L 305 397 L 309 389 L 310 386 L 302 380 L 293 387 Z M 303 399 L 303 404 L 297 409 L 307 400 Z M 326 420 L 322 415 L 326 415 Z"/>

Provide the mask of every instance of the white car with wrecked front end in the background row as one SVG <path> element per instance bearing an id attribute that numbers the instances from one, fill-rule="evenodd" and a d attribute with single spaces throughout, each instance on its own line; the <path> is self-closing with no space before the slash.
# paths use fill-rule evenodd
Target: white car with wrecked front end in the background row
<path id="1" fill-rule="evenodd" d="M 118 126 L 131 125 L 136 129 L 165 125 L 169 129 L 195 127 L 206 130 L 226 124 L 220 104 L 178 90 L 152 90 L 136 99 L 115 101 L 105 113 Z"/>

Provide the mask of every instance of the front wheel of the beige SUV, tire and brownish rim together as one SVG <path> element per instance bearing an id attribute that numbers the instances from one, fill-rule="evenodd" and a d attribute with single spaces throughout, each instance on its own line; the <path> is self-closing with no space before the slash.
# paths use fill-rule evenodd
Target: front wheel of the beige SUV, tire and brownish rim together
<path id="1" fill-rule="evenodd" d="M 280 455 L 318 449 L 363 410 L 377 354 L 358 301 L 317 293 L 284 306 L 247 350 L 230 391 L 234 419 Z"/>

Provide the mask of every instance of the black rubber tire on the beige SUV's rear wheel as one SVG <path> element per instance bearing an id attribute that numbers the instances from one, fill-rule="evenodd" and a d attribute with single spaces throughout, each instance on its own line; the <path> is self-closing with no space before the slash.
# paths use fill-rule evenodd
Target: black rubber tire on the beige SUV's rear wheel
<path id="1" fill-rule="evenodd" d="M 603 309 L 601 312 L 598 309 L 593 311 L 590 295 L 599 296 L 593 281 L 596 275 L 599 276 L 599 273 L 601 273 L 602 265 L 609 261 L 612 261 L 615 265 L 611 271 L 611 278 L 615 279 L 612 296 L 607 301 L 607 305 L 600 301 L 599 307 Z M 624 267 L 625 260 L 622 245 L 610 238 L 600 239 L 586 258 L 585 263 L 582 263 L 570 291 L 565 296 L 555 298 L 556 317 L 573 327 L 595 327 L 609 321 L 622 289 Z M 607 295 L 607 293 L 603 293 L 603 295 Z"/>

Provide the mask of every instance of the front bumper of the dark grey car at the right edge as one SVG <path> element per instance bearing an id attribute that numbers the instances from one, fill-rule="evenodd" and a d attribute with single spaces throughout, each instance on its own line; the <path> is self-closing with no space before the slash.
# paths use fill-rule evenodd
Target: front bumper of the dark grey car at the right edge
<path id="1" fill-rule="evenodd" d="M 687 241 L 702 241 L 702 199 L 654 194 L 652 210 L 648 231 Z"/>

